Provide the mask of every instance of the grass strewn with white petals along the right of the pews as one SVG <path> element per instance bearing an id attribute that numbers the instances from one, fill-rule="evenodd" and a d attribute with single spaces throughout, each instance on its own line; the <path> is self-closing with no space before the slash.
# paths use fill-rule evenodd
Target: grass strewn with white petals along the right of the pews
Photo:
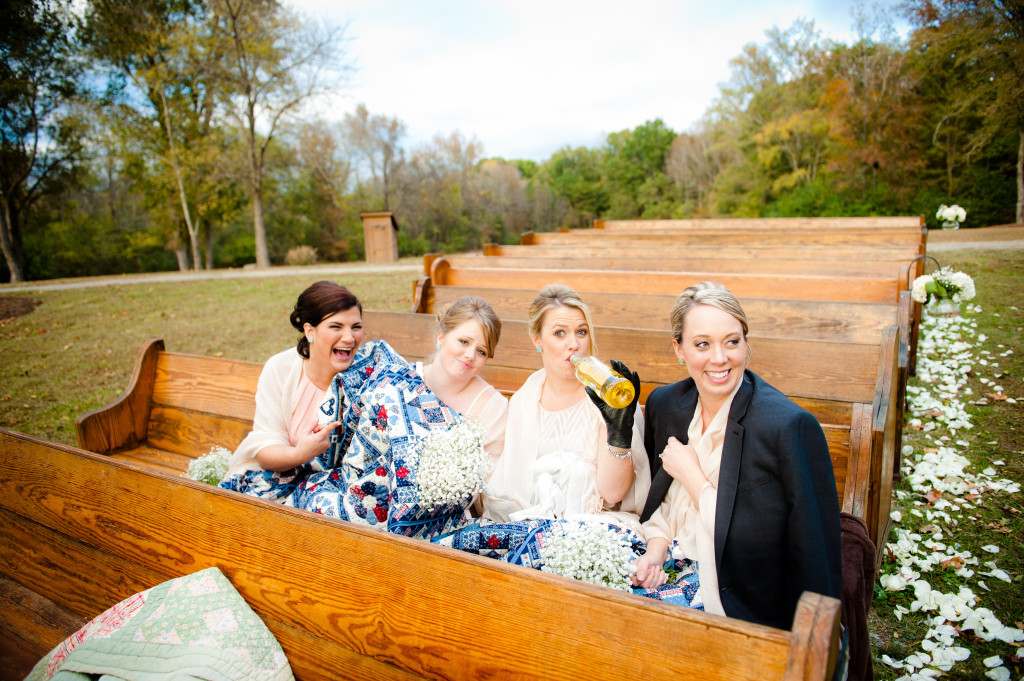
<path id="1" fill-rule="evenodd" d="M 882 565 L 883 574 L 894 574 L 900 565 L 900 555 L 907 546 L 915 547 L 916 563 L 910 569 L 920 573 L 934 592 L 941 594 L 973 594 L 971 607 L 977 611 L 988 608 L 1005 626 L 1021 629 L 1024 624 L 1024 503 L 1020 493 L 992 490 L 992 480 L 1024 482 L 1024 252 L 962 251 L 938 253 L 943 265 L 950 265 L 974 278 L 979 306 L 976 313 L 965 314 L 967 326 L 962 342 L 965 350 L 952 342 L 940 343 L 930 354 L 941 367 L 970 366 L 955 381 L 954 398 L 940 398 L 939 403 L 925 405 L 926 411 L 916 421 L 907 414 L 903 433 L 905 462 L 916 463 L 924 471 L 930 462 L 926 457 L 947 457 L 951 453 L 964 457 L 964 475 L 947 469 L 946 476 L 934 474 L 916 486 L 911 485 L 904 467 L 904 476 L 894 484 L 892 509 L 900 520 L 894 524 L 889 542 L 897 544 L 905 533 L 903 546 L 887 551 Z M 938 337 L 939 331 L 933 332 Z M 970 356 L 971 358 L 964 359 Z M 919 364 L 919 369 L 922 364 Z M 937 372 L 933 372 L 933 377 Z M 919 371 L 911 377 L 909 400 L 921 402 L 941 395 L 942 381 L 925 380 Z M 1001 388 L 998 390 L 997 388 Z M 918 396 L 914 390 L 921 390 Z M 949 392 L 945 392 L 946 395 Z M 1000 397 L 1011 397 L 1013 401 Z M 953 419 L 953 426 L 940 416 L 953 402 L 963 407 L 970 428 Z M 940 459 L 941 460 L 941 459 Z M 988 471 L 986 473 L 986 471 Z M 956 488 L 950 484 L 957 478 L 966 480 Z M 953 491 L 950 491 L 952 488 Z M 997 551 L 993 552 L 993 549 Z M 964 560 L 965 556 L 971 556 Z M 976 559 L 976 561 L 975 561 Z M 921 563 L 932 562 L 929 568 Z M 1010 582 L 994 576 L 986 565 L 995 563 Z M 972 572 L 973 574 L 969 574 Z M 987 574 L 985 574 L 987 572 Z M 963 591 L 967 590 L 967 591 Z M 1021 643 L 985 640 L 987 635 L 968 628 L 968 622 L 936 618 L 937 608 L 927 611 L 915 608 L 929 600 L 912 585 L 902 590 L 886 590 L 878 582 L 874 588 L 874 608 L 869 628 L 874 638 L 874 677 L 880 680 L 913 678 L 907 669 L 893 669 L 881 662 L 882 655 L 905 661 L 922 651 L 937 656 L 932 647 L 944 631 L 950 646 L 969 651 L 966 659 L 957 661 L 942 678 L 948 679 L 1021 679 L 1024 658 L 1016 656 Z M 898 608 L 905 609 L 902 620 Z M 948 610 L 946 611 L 948 613 Z M 948 629 L 940 629 L 948 627 Z M 931 636 L 929 635 L 931 633 Z M 928 639 L 928 640 L 926 640 Z M 942 647 L 942 646 L 939 646 Z M 929 652 L 931 650 L 931 652 Z M 964 652 L 957 652 L 964 656 Z M 995 658 L 998 658 L 996 661 Z M 986 665 L 987 661 L 987 665 Z M 919 659 L 918 662 L 924 662 Z M 998 664 L 997 664 L 998 662 Z M 925 669 L 932 667 L 926 665 Z M 1005 671 L 995 668 L 1004 667 Z M 920 669 L 919 672 L 920 673 Z M 1009 676 L 1006 673 L 1009 672 Z"/>

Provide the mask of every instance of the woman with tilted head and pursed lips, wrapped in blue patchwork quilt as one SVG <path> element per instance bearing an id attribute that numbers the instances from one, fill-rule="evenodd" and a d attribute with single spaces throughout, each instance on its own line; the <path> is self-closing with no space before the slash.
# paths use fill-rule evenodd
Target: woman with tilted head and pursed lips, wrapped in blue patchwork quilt
<path id="1" fill-rule="evenodd" d="M 500 334 L 490 305 L 466 297 L 438 313 L 430 361 L 371 356 L 338 374 L 321 420 L 342 427 L 295 506 L 419 539 L 468 521 L 504 443 L 507 400 L 478 376 Z"/>

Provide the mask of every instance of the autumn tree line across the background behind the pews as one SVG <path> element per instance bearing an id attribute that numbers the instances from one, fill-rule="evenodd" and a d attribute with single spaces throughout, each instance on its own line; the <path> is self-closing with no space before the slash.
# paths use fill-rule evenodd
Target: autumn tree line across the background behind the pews
<path id="1" fill-rule="evenodd" d="M 273 0 L 11 0 L 0 24 L 0 275 L 11 281 L 514 243 L 604 218 L 923 214 L 1024 222 L 1024 0 L 910 0 L 858 38 L 772 28 L 691 128 L 543 162 L 458 130 L 415 148 L 344 88 L 343 26 Z M 681 68 L 688 68 L 681 65 Z M 666 87 L 673 87 L 667 83 Z"/>

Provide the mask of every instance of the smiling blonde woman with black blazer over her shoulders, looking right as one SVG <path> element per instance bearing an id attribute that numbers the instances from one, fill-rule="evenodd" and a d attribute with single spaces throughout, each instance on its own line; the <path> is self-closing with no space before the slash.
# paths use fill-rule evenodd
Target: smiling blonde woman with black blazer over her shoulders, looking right
<path id="1" fill-rule="evenodd" d="M 648 551 L 634 583 L 656 592 L 673 558 L 696 559 L 706 609 L 790 629 L 804 591 L 840 595 L 839 502 L 824 434 L 745 369 L 746 317 L 725 287 L 688 288 L 672 322 L 690 378 L 647 399 Z"/>

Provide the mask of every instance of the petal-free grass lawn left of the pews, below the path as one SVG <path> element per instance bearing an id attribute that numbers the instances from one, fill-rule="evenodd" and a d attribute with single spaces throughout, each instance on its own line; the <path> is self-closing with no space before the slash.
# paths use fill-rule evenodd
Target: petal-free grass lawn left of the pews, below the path
<path id="1" fill-rule="evenodd" d="M 0 426 L 78 444 L 75 419 L 128 387 L 147 338 L 167 349 L 263 361 L 298 341 L 295 299 L 323 274 L 124 284 L 13 294 L 40 301 L 0 325 Z M 366 309 L 407 311 L 415 275 L 332 278 Z M 0 291 L 2 294 L 2 291 Z"/>

